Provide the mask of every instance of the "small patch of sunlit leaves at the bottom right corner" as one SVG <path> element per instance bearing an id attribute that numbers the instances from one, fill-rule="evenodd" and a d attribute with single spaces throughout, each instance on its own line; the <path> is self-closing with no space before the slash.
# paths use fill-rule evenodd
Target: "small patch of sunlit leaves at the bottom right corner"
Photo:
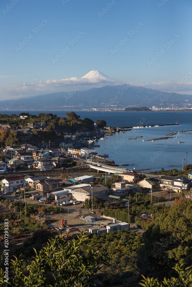
<path id="1" fill-rule="evenodd" d="M 141 280 L 144 283 L 139 283 L 143 287 L 191 287 L 192 286 L 192 270 L 191 267 L 187 267 L 184 269 L 183 264 L 176 266 L 173 268 L 177 273 L 179 278 L 171 277 L 170 279 L 164 278 L 162 282 L 158 279 L 145 278 Z"/>

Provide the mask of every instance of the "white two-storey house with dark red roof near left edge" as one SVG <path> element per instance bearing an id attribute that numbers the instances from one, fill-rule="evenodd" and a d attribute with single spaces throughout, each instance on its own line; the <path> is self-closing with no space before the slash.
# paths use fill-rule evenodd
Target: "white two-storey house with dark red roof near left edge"
<path id="1" fill-rule="evenodd" d="M 16 189 L 24 185 L 24 176 L 5 178 L 1 181 L 1 184 L 1 191 L 3 191 L 3 193 L 16 191 Z"/>

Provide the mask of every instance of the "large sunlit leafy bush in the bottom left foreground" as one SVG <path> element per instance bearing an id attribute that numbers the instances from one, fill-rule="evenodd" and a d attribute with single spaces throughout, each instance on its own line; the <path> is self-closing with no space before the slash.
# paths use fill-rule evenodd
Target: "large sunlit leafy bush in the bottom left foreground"
<path id="1" fill-rule="evenodd" d="M 22 260 L 12 260 L 12 276 L 4 282 L 4 270 L 0 269 L 1 287 L 84 287 L 88 286 L 91 277 L 98 270 L 101 263 L 106 261 L 106 256 L 92 249 L 85 256 L 82 246 L 89 245 L 85 234 L 69 242 L 62 241 L 62 237 L 50 239 L 47 246 L 41 249 L 36 258 L 27 266 L 24 273 Z"/>

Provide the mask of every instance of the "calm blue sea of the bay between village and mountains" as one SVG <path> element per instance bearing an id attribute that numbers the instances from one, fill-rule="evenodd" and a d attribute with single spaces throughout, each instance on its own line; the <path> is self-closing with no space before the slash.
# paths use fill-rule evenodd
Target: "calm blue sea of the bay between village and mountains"
<path id="1" fill-rule="evenodd" d="M 0 110 L 1 114 L 19 114 L 20 110 Z M 39 113 L 53 113 L 59 117 L 65 117 L 67 110 L 25 110 L 32 115 Z M 186 164 L 192 163 L 192 132 L 179 133 L 172 139 L 146 141 L 146 139 L 163 137 L 169 133 L 192 130 L 192 112 L 188 111 L 151 111 L 151 112 L 123 112 L 123 111 L 84 111 L 75 110 L 82 119 L 90 118 L 93 121 L 104 120 L 111 127 L 128 127 L 139 125 L 163 125 L 176 124 L 174 126 L 147 127 L 132 129 L 125 133 L 115 133 L 106 136 L 107 139 L 96 141 L 100 148 L 95 148 L 98 154 L 109 154 L 116 164 L 129 164 L 125 166 L 135 170 L 164 170 L 182 169 L 183 158 Z M 134 141 L 129 138 L 142 136 Z M 143 141 L 144 140 L 144 141 Z M 184 143 L 179 143 L 184 141 Z M 149 170 L 150 169 L 150 170 Z"/>

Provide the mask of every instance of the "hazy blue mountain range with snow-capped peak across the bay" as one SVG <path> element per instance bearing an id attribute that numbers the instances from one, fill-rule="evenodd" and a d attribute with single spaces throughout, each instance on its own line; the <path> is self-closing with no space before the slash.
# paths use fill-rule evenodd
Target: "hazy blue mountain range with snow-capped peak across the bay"
<path id="1" fill-rule="evenodd" d="M 110 82 L 108 76 L 98 71 L 90 71 L 83 76 L 87 79 L 100 79 Z M 79 84 L 81 85 L 81 84 Z M 147 107 L 183 107 L 192 104 L 192 96 L 185 94 L 166 93 L 142 86 L 107 85 L 81 91 L 78 85 L 70 92 L 57 92 L 30 98 L 19 98 L 0 101 L 0 109 L 68 109 L 70 108 L 125 108 L 128 106 Z M 190 106 L 189 106 L 190 107 Z"/>

